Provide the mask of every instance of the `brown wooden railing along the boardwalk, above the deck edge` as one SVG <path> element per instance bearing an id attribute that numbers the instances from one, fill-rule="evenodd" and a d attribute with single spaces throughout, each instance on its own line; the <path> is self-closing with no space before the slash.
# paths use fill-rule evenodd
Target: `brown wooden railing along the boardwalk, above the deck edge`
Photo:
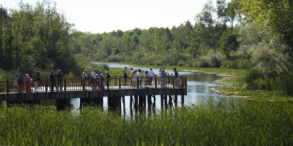
<path id="1" fill-rule="evenodd" d="M 43 77 L 44 78 L 44 77 Z M 104 89 L 130 89 L 130 88 L 186 88 L 185 77 L 127 77 L 111 76 L 111 78 L 63 77 L 62 80 L 50 80 L 48 77 L 42 80 L 1 80 L 0 93 L 22 92 L 52 92 L 72 90 L 104 90 Z"/>

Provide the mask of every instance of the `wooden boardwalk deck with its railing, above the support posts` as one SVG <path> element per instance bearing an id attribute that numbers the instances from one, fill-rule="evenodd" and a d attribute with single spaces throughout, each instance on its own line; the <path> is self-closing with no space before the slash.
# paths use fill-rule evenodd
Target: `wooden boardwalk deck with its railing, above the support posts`
<path id="1" fill-rule="evenodd" d="M 43 77 L 44 78 L 44 77 Z M 102 98 L 122 96 L 146 96 L 146 95 L 187 95 L 186 76 L 175 81 L 173 76 L 153 77 L 152 86 L 146 86 L 145 80 L 149 77 L 142 77 L 141 87 L 138 78 L 123 78 L 123 76 L 112 76 L 108 79 L 108 88 L 104 86 L 104 78 L 99 78 L 99 87 L 91 84 L 91 80 L 84 80 L 80 77 L 64 77 L 62 79 L 61 91 L 57 91 L 54 82 L 46 79 L 23 81 L 21 86 L 15 86 L 15 81 L 0 81 L 0 101 L 29 101 L 46 99 L 71 99 L 71 98 Z M 181 82 L 181 87 L 179 87 Z M 176 86 L 176 83 L 178 86 Z M 53 91 L 51 87 L 53 85 Z M 125 86 L 126 85 L 126 86 Z M 133 86 L 134 85 L 134 86 Z M 37 87 L 38 86 L 38 87 Z M 60 88 L 59 88 L 60 89 Z"/>

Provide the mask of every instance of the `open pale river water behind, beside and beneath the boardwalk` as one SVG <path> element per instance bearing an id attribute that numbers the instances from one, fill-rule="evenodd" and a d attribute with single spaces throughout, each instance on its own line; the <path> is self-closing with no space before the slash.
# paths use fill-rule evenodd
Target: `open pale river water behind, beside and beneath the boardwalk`
<path id="1" fill-rule="evenodd" d="M 101 64 L 101 63 L 97 63 Z M 110 68 L 121 68 L 121 72 L 123 72 L 124 67 L 127 68 L 133 68 L 135 69 L 141 69 L 144 70 L 150 70 L 149 68 L 140 68 L 140 67 L 132 67 L 128 65 L 119 65 L 119 64 L 107 64 Z M 155 74 L 158 74 L 159 69 L 153 69 Z M 169 74 L 174 74 L 173 70 L 165 70 Z M 104 73 L 102 71 L 102 73 Z M 192 71 L 180 71 L 178 70 L 179 75 L 186 75 L 187 76 L 187 96 L 184 98 L 184 105 L 189 105 L 190 103 L 199 103 L 204 102 L 208 100 L 209 98 L 213 98 L 216 101 L 219 101 L 219 94 L 215 92 L 214 90 L 211 90 L 213 86 L 217 85 L 215 83 L 215 80 L 222 79 L 223 76 L 218 76 L 216 74 L 208 74 L 208 73 L 202 73 L 202 72 L 192 72 Z M 107 98 L 104 97 L 104 107 L 107 107 Z M 154 98 L 152 98 L 152 101 L 154 102 Z M 181 96 L 178 96 L 178 106 L 181 105 Z M 76 100 L 76 102 L 79 102 Z M 121 101 L 122 103 L 122 101 Z M 174 103 L 173 103 L 174 104 Z M 78 104 L 74 104 L 78 105 Z M 129 111 L 129 105 L 130 105 L 130 97 L 125 97 L 125 110 Z M 156 96 L 156 108 L 160 108 L 160 96 Z M 123 110 L 123 105 L 121 106 L 121 109 Z"/>

